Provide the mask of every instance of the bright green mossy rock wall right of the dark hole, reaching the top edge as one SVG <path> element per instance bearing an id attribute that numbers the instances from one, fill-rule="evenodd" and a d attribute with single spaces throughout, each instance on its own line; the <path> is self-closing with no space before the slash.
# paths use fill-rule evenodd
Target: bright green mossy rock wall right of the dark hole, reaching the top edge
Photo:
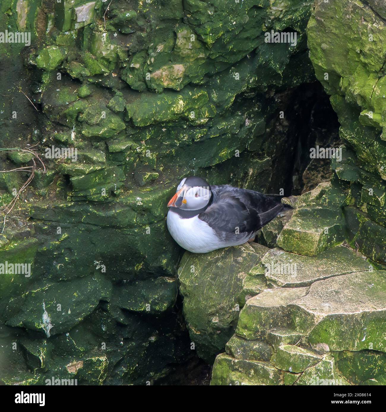
<path id="1" fill-rule="evenodd" d="M 350 244 L 384 264 L 384 5 L 317 0 L 307 32 L 315 74 L 331 94 L 341 124 L 343 156 L 340 162 L 334 159 L 332 169 L 335 180 L 350 187 L 350 204 L 345 207 Z M 358 224 L 353 225 L 355 215 Z"/>

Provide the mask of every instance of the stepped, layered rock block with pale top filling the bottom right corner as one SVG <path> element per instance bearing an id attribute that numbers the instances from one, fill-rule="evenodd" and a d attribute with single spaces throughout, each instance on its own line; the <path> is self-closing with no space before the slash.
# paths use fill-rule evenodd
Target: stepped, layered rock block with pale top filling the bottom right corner
<path id="1" fill-rule="evenodd" d="M 260 361 L 259 351 L 246 348 L 265 347 L 264 343 L 272 350 L 265 366 L 282 373 L 280 384 L 382 382 L 385 275 L 384 271 L 355 272 L 308 287 L 266 289 L 252 297 L 240 312 L 236 335 L 227 344 L 232 350 L 216 359 L 212 384 L 262 384 L 264 373 L 253 376 L 244 364 L 244 369 L 237 365 L 237 359 L 245 361 L 249 356 Z M 244 339 L 251 344 L 246 345 Z M 361 367 L 362 360 L 365 366 Z M 264 384 L 276 382 L 273 377 Z"/>

